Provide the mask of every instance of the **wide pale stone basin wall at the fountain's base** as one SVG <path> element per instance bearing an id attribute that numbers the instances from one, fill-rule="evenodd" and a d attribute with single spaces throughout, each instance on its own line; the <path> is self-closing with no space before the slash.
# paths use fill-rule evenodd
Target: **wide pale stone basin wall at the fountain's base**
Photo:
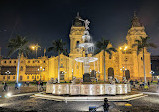
<path id="1" fill-rule="evenodd" d="M 47 84 L 46 93 L 55 95 L 116 95 L 131 92 L 130 84 Z"/>

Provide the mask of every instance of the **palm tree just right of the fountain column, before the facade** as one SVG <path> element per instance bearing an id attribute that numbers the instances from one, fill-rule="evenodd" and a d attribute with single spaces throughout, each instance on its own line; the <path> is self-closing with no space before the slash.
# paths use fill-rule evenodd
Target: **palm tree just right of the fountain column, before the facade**
<path id="1" fill-rule="evenodd" d="M 108 47 L 110 41 L 105 40 L 104 38 L 101 39 L 101 41 L 97 41 L 96 47 L 97 52 L 103 51 L 103 60 L 104 60 L 104 82 L 106 81 L 106 70 L 105 70 L 105 52 L 109 54 L 111 57 L 112 52 L 116 52 L 117 50 L 114 47 Z"/>

